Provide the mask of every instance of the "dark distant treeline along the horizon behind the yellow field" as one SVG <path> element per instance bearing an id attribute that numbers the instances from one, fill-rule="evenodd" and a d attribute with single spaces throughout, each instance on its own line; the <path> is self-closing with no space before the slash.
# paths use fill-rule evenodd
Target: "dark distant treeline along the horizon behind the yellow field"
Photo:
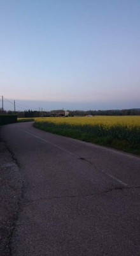
<path id="1" fill-rule="evenodd" d="M 88 111 L 81 111 L 81 110 L 67 110 L 68 116 L 87 116 L 87 115 L 99 115 L 99 116 L 127 116 L 127 115 L 140 115 L 140 108 L 139 109 L 122 109 L 122 110 L 88 110 Z M 2 113 L 0 113 L 2 114 Z M 64 116 L 65 111 L 64 109 L 57 109 L 52 111 L 32 111 L 32 110 L 25 110 L 25 111 L 4 111 L 4 115 L 17 115 L 18 117 L 41 117 L 41 116 Z"/>

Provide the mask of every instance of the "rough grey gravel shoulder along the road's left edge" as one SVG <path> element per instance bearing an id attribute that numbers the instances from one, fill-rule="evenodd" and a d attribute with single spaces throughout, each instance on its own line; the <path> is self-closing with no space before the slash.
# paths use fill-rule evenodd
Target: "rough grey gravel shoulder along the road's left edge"
<path id="1" fill-rule="evenodd" d="M 11 255 L 11 236 L 18 218 L 22 176 L 18 164 L 0 138 L 0 255 Z"/>

